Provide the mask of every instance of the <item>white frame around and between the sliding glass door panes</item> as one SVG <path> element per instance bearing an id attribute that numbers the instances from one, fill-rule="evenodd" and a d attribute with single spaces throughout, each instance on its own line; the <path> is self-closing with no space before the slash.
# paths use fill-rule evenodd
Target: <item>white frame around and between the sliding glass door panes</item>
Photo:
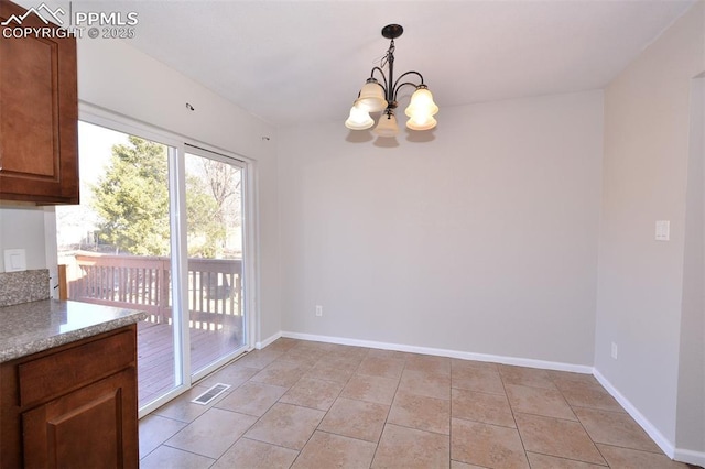
<path id="1" fill-rule="evenodd" d="M 181 334 L 175 334 L 175 382 L 181 382 L 169 393 L 152 401 L 140 408 L 140 418 L 177 395 L 188 391 L 199 379 L 221 367 L 225 361 L 231 360 L 238 353 L 227 356 L 203 370 L 197 375 L 192 375 L 189 329 L 187 323 L 187 290 L 188 290 L 188 253 L 186 246 L 186 183 L 185 183 L 185 154 L 186 152 L 198 154 L 198 151 L 208 155 L 216 155 L 221 161 L 236 164 L 243 172 L 242 177 L 242 296 L 245 312 L 246 343 L 238 352 L 249 351 L 257 343 L 259 332 L 259 249 L 258 249 L 258 203 L 257 203 L 257 165 L 253 160 L 229 152 L 227 150 L 209 145 L 197 140 L 173 133 L 128 117 L 117 114 L 102 108 L 86 102 L 79 102 L 79 120 L 100 126 L 107 129 L 123 132 L 162 143 L 169 146 L 169 184 L 170 184 L 170 228 L 172 250 L 172 288 L 180 292 L 172 298 L 172 315 L 174 324 L 181 325 Z M 210 157 L 210 156 L 209 156 Z M 46 257 L 47 268 L 52 277 L 57 272 L 56 255 L 56 216 L 53 207 L 48 207 L 45 218 Z M 184 305 L 186 302 L 186 305 Z M 180 358 L 181 357 L 181 358 Z M 138 377 L 139 378 L 139 377 Z"/>

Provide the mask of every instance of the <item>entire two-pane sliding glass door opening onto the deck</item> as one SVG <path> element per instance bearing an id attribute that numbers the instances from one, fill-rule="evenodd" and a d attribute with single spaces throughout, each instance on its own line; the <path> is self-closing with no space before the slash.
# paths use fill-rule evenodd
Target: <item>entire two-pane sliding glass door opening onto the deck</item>
<path id="1" fill-rule="evenodd" d="M 159 139 L 80 122 L 82 201 L 56 207 L 68 299 L 149 315 L 138 324 L 142 411 L 248 345 L 246 165 Z"/>

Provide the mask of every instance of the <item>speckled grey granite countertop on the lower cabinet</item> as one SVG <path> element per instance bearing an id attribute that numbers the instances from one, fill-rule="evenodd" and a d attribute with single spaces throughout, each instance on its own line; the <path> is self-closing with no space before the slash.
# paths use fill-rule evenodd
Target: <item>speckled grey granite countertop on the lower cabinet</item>
<path id="1" fill-rule="evenodd" d="M 138 323 L 147 313 L 44 299 L 0 307 L 0 363 Z"/>

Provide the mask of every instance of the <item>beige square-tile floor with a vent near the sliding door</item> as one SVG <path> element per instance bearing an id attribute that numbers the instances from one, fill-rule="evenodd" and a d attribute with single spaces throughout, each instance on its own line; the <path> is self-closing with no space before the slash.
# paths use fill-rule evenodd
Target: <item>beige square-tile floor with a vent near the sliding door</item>
<path id="1" fill-rule="evenodd" d="M 208 406 L 189 401 L 232 388 Z M 140 422 L 144 468 L 687 468 L 592 375 L 279 339 Z"/>

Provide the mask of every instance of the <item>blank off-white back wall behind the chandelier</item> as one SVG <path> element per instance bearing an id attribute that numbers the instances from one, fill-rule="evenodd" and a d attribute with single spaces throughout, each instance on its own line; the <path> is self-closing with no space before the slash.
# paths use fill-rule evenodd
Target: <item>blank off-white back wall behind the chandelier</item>
<path id="1" fill-rule="evenodd" d="M 280 130 L 285 331 L 592 364 L 601 91 L 446 107 L 395 148 L 343 119 Z"/>

